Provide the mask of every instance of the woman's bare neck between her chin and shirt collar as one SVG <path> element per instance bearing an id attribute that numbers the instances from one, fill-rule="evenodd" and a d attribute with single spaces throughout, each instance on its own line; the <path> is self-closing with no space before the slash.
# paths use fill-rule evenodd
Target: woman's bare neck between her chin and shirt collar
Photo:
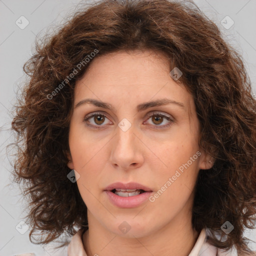
<path id="1" fill-rule="evenodd" d="M 104 228 L 90 212 L 88 222 L 93 228 L 84 232 L 82 237 L 87 256 L 187 256 L 199 235 L 192 228 L 187 209 L 157 231 L 142 237 L 119 236 Z"/>

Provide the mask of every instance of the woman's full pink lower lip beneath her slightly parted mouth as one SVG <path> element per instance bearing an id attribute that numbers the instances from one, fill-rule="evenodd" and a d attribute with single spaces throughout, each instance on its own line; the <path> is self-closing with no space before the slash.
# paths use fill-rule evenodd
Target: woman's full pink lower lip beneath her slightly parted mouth
<path id="1" fill-rule="evenodd" d="M 109 200 L 120 208 L 134 208 L 145 202 L 152 191 L 143 192 L 133 196 L 120 196 L 111 191 L 105 191 Z"/>

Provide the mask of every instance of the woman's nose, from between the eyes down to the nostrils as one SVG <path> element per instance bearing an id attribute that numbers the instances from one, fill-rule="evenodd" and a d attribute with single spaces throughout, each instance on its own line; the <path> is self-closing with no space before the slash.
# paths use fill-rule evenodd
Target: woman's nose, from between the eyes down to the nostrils
<path id="1" fill-rule="evenodd" d="M 134 125 L 126 131 L 117 127 L 117 133 L 112 140 L 110 162 L 115 168 L 128 170 L 140 167 L 143 164 L 143 147 Z"/>

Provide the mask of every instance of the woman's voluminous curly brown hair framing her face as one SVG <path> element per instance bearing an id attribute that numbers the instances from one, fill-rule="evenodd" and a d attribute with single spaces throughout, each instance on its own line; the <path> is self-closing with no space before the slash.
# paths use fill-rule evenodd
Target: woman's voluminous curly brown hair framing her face
<path id="1" fill-rule="evenodd" d="M 30 241 L 36 231 L 46 234 L 39 242 L 48 243 L 63 232 L 73 235 L 75 226 L 87 227 L 86 205 L 67 178 L 75 81 L 90 64 L 84 59 L 91 52 L 96 58 L 153 49 L 182 70 L 177 82 L 194 98 L 199 145 L 216 159 L 212 168 L 199 170 L 192 225 L 198 232 L 209 228 L 209 242 L 219 248 L 252 252 L 243 231 L 256 219 L 256 102 L 241 56 L 191 3 L 100 0 L 36 41 L 12 120 L 19 148 L 13 173 L 29 196 Z M 220 228 L 226 220 L 234 227 L 227 235 Z"/>

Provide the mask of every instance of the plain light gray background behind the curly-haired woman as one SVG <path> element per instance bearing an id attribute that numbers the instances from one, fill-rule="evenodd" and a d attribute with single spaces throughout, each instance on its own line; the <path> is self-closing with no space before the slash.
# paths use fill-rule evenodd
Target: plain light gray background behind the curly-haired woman
<path id="1" fill-rule="evenodd" d="M 35 35 L 45 31 L 48 26 L 61 23 L 78 2 L 0 0 L 0 255 L 24 252 L 35 252 L 37 256 L 58 254 L 50 249 L 52 245 L 43 248 L 32 244 L 28 231 L 20 234 L 15 228 L 24 217 L 22 209 L 25 204 L 22 196 L 17 195 L 18 187 L 10 184 L 11 159 L 6 156 L 6 145 L 12 141 L 10 109 L 15 103 L 15 91 L 22 85 L 22 65 L 31 56 Z M 256 0 L 195 0 L 195 3 L 215 21 L 224 38 L 242 54 L 253 91 L 256 92 Z M 29 21 L 24 29 L 15 23 L 22 15 Z M 226 15 L 234 21 L 228 29 L 221 24 Z M 227 19 L 226 25 L 230 24 L 228 22 Z M 22 24 L 25 24 L 24 20 Z M 256 229 L 246 230 L 245 235 L 256 241 Z M 250 245 L 256 249 L 255 243 L 251 242 Z"/>

